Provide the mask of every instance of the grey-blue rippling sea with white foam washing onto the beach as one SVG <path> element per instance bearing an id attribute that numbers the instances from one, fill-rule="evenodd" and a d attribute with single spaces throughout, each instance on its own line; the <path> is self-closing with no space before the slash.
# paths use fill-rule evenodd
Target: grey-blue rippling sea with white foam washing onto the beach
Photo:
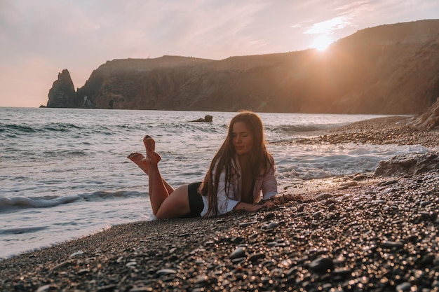
<path id="1" fill-rule="evenodd" d="M 191 120 L 213 116 L 212 123 Z M 0 259 L 154 220 L 147 175 L 128 160 L 149 134 L 172 185 L 201 181 L 232 112 L 0 107 Z M 278 190 L 313 179 L 374 172 L 420 145 L 295 144 L 303 137 L 379 116 L 259 113 L 276 160 Z M 317 132 L 316 132 L 317 131 Z M 286 189 L 286 190 L 285 190 Z"/>

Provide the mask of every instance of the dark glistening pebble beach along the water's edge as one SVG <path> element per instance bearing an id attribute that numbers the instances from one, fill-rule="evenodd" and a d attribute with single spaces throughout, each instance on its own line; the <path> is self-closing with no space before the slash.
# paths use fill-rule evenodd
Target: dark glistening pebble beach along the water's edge
<path id="1" fill-rule="evenodd" d="M 382 118 L 294 143 L 439 145 Z M 292 142 L 293 143 L 293 142 Z M 254 214 L 147 221 L 0 261 L 0 291 L 439 291 L 439 174 L 304 183 Z"/>

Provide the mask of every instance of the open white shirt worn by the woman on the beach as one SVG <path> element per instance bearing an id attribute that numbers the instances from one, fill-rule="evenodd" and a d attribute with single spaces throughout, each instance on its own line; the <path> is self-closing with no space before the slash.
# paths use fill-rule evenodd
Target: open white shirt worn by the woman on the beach
<path id="1" fill-rule="evenodd" d="M 239 161 L 236 160 L 236 169 L 238 172 L 235 174 L 231 174 L 231 180 L 229 185 L 229 192 L 227 196 L 226 193 L 226 171 L 222 170 L 221 175 L 219 176 L 219 186 L 217 191 L 217 207 L 218 207 L 218 215 L 229 213 L 238 202 L 241 202 L 241 185 L 242 185 L 242 174 L 241 174 L 241 165 L 239 165 Z M 268 172 L 264 175 L 264 170 L 262 170 L 261 175 L 255 181 L 255 187 L 253 188 L 253 203 L 259 202 L 261 200 L 261 190 L 262 190 L 262 198 L 264 200 L 269 197 L 273 197 L 278 193 L 278 184 L 276 181 L 276 177 L 274 176 L 274 169 L 269 169 Z M 208 196 L 203 197 L 204 208 L 201 211 L 201 216 L 215 216 L 215 214 L 208 214 L 209 202 Z"/>

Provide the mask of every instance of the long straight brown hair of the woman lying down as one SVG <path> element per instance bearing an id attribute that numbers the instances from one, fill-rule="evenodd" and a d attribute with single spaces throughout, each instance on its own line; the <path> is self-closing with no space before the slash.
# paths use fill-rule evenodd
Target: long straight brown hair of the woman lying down
<path id="1" fill-rule="evenodd" d="M 262 125 L 261 118 L 251 111 L 241 111 L 231 119 L 227 137 L 213 157 L 212 162 L 210 162 L 208 172 L 205 174 L 203 183 L 201 183 L 199 188 L 201 195 L 208 196 L 208 214 L 218 214 L 217 191 L 219 176 L 222 171 L 226 174 L 226 195 L 229 195 L 228 190 L 231 184 L 231 176 L 238 171 L 234 167 L 236 165 L 236 151 L 232 139 L 234 124 L 238 122 L 244 123 L 253 137 L 253 146 L 249 159 L 250 169 L 252 169 L 252 177 L 250 179 L 254 182 L 261 175 L 262 170 L 264 170 L 263 174 L 265 174 L 269 169 L 274 169 L 273 156 L 265 147 L 264 126 Z"/>

